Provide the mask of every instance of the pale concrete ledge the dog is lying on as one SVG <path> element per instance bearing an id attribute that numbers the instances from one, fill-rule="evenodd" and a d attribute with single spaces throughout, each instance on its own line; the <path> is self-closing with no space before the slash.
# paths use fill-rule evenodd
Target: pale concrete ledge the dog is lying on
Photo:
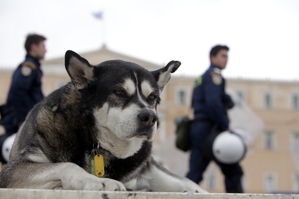
<path id="1" fill-rule="evenodd" d="M 299 195 L 0 189 L 0 199 L 299 199 Z"/>

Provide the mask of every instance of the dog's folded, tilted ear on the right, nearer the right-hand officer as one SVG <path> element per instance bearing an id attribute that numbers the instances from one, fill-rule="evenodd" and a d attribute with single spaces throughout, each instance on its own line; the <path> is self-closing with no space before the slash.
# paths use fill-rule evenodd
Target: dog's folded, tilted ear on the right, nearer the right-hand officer
<path id="1" fill-rule="evenodd" d="M 162 93 L 164 86 L 170 80 L 171 73 L 174 73 L 180 65 L 181 63 L 179 61 L 171 61 L 165 67 L 151 72 L 157 81 L 160 94 Z"/>

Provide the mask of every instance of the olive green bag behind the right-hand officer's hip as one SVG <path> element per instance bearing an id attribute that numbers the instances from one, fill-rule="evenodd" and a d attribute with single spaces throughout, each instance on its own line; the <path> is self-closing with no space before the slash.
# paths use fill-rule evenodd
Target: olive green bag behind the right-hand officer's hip
<path id="1" fill-rule="evenodd" d="M 187 116 L 180 116 L 175 119 L 175 146 L 182 151 L 188 151 L 190 149 L 189 131 L 191 122 L 192 120 Z"/>

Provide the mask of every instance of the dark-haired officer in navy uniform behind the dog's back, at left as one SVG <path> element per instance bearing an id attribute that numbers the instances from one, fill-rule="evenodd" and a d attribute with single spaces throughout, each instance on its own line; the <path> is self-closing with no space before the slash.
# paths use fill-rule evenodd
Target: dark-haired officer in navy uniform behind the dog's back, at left
<path id="1" fill-rule="evenodd" d="M 45 40 L 37 34 L 29 34 L 26 38 L 25 61 L 14 71 L 6 104 L 1 106 L 5 134 L 0 137 L 0 145 L 5 137 L 17 132 L 30 109 L 43 98 L 40 60 L 46 52 Z"/>

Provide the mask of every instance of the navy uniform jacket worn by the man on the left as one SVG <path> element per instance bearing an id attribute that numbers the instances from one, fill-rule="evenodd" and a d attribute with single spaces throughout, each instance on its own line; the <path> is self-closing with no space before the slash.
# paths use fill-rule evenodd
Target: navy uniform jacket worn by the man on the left
<path id="1" fill-rule="evenodd" d="M 2 124 L 6 133 L 17 132 L 18 124 L 25 120 L 30 109 L 43 98 L 41 76 L 39 61 L 26 55 L 25 61 L 13 73 L 7 101 L 2 110 Z"/>

